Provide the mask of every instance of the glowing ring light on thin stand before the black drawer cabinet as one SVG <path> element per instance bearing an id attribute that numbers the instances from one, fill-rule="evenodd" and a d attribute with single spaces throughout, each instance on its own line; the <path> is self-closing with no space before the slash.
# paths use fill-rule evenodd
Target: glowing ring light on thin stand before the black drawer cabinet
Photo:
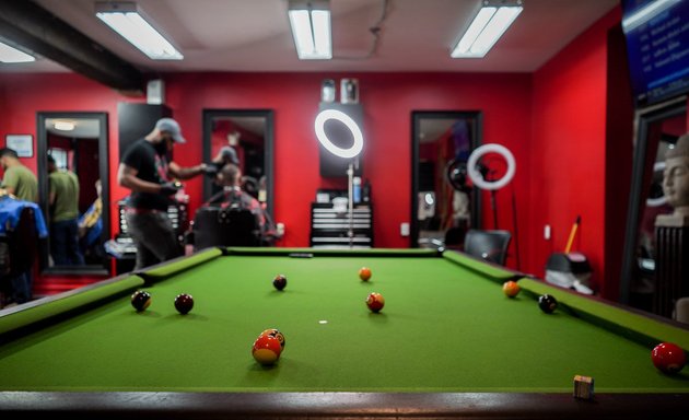
<path id="1" fill-rule="evenodd" d="M 325 132 L 325 124 L 329 119 L 335 119 L 342 122 L 349 131 L 354 137 L 354 143 L 349 149 L 342 149 L 335 145 L 328 136 Z M 316 137 L 320 144 L 323 144 L 326 150 L 338 158 L 349 159 L 349 167 L 347 170 L 347 178 L 348 178 L 348 201 L 349 201 L 349 247 L 354 247 L 354 200 L 353 200 L 353 190 L 354 190 L 354 158 L 357 158 L 361 151 L 363 150 L 363 133 L 361 132 L 361 128 L 357 125 L 357 122 L 347 114 L 337 109 L 324 109 L 316 116 L 316 121 L 314 122 L 314 128 L 316 130 Z"/>

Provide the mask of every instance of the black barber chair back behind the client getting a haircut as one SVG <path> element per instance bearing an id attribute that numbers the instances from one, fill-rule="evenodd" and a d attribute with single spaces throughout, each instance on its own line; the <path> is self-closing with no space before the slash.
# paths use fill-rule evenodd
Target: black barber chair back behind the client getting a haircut
<path id="1" fill-rule="evenodd" d="M 259 246 L 260 226 L 248 209 L 202 207 L 194 218 L 194 248 Z"/>

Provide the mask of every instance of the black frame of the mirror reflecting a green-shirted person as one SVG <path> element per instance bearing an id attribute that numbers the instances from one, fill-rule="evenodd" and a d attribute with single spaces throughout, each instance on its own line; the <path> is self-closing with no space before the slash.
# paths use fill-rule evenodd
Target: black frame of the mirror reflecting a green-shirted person
<path id="1" fill-rule="evenodd" d="M 38 206 L 46 215 L 46 224 L 49 229 L 48 217 L 48 136 L 46 130 L 46 120 L 51 118 L 66 118 L 66 119 L 97 119 L 98 120 L 98 175 L 101 178 L 101 199 L 103 200 L 103 232 L 101 237 L 103 241 L 110 238 L 110 195 L 109 195 L 109 153 L 108 153 L 108 126 L 107 126 L 107 113 L 92 113 L 92 112 L 38 112 L 36 113 L 36 164 L 37 164 L 37 177 L 38 177 Z M 44 174 L 44 176 L 42 176 Z M 49 241 L 49 240 L 48 240 Z M 109 276 L 109 262 L 103 261 L 103 266 L 86 265 L 86 266 L 57 266 L 49 267 L 49 242 L 40 241 L 40 272 L 42 273 L 77 273 L 77 275 L 103 275 Z"/>

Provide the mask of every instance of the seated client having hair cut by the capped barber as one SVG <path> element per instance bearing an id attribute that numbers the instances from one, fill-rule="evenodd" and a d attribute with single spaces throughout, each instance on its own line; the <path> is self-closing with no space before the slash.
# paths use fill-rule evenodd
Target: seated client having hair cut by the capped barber
<path id="1" fill-rule="evenodd" d="M 256 215 L 260 229 L 261 242 L 265 245 L 278 238 L 268 214 L 264 211 L 257 199 L 242 190 L 242 172 L 233 163 L 225 164 L 218 173 L 215 183 L 222 190 L 212 196 L 203 206 L 218 206 L 220 208 L 248 209 Z"/>

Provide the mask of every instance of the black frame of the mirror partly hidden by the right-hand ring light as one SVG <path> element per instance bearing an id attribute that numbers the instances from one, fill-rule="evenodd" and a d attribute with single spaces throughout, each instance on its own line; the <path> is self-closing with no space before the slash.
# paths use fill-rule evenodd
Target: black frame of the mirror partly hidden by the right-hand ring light
<path id="1" fill-rule="evenodd" d="M 409 223 L 410 247 L 419 247 L 419 139 L 417 131 L 421 119 L 459 119 L 476 120 L 471 150 L 481 145 L 483 141 L 483 113 L 480 110 L 412 110 L 411 112 L 411 221 Z M 471 191 L 471 228 L 481 226 L 481 195 L 478 188 Z"/>

